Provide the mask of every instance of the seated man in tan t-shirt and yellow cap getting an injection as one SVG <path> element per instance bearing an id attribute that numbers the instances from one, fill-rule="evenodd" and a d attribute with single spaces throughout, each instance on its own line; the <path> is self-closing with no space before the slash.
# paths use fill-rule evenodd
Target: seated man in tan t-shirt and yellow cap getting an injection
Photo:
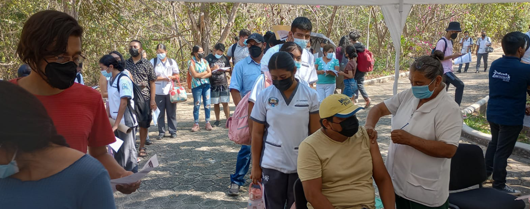
<path id="1" fill-rule="evenodd" d="M 330 95 L 320 106 L 322 128 L 300 144 L 298 177 L 310 209 L 375 209 L 373 180 L 385 208 L 394 208 L 392 179 L 379 146 L 359 127 L 360 109 L 346 95 Z"/>

